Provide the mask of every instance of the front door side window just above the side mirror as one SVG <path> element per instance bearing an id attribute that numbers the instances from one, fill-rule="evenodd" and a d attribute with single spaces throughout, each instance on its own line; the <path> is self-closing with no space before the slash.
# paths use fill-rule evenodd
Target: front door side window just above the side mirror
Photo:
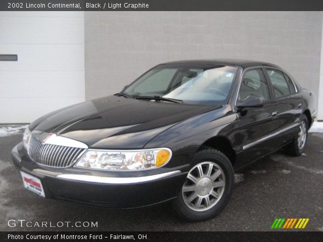
<path id="1" fill-rule="evenodd" d="M 261 97 L 263 101 L 270 99 L 268 85 L 261 69 L 247 71 L 242 78 L 239 98 L 243 100 L 250 95 Z"/>

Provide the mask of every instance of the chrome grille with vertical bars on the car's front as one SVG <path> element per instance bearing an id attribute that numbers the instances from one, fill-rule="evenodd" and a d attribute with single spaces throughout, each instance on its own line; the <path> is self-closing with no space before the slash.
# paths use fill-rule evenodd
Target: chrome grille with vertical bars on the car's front
<path id="1" fill-rule="evenodd" d="M 30 138 L 28 154 L 41 165 L 68 167 L 76 161 L 85 149 L 60 145 L 42 144 L 33 136 Z"/>

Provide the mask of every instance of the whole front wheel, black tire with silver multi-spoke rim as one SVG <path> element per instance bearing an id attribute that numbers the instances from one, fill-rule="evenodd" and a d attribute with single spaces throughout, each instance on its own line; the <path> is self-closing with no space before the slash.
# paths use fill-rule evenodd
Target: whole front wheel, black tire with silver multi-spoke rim
<path id="1" fill-rule="evenodd" d="M 198 168 L 202 167 L 202 176 L 199 176 L 199 178 L 196 180 L 196 182 L 192 182 L 194 191 L 191 192 L 183 192 L 184 187 L 189 188 L 192 187 L 188 185 L 190 182 L 189 178 L 186 178 L 185 183 L 183 185 L 182 191 L 179 193 L 176 200 L 174 200 L 173 208 L 176 212 L 176 214 L 186 221 L 190 222 L 197 222 L 197 221 L 203 221 L 209 218 L 212 218 L 216 215 L 218 215 L 228 204 L 234 187 L 234 170 L 232 167 L 232 164 L 227 156 L 225 156 L 222 152 L 216 150 L 216 149 L 203 149 L 199 152 L 197 152 L 192 160 L 192 166 L 188 174 L 193 174 L 195 171 L 194 169 L 199 170 Z M 212 167 L 212 168 L 209 168 Z M 205 170 L 204 170 L 205 169 Z M 209 176 L 204 177 L 204 175 L 208 174 L 208 169 L 211 169 Z M 198 172 L 198 171 L 197 171 Z M 212 177 L 216 177 L 217 174 L 221 172 L 221 174 L 218 176 L 218 178 L 213 179 Z M 217 174 L 216 174 L 217 173 Z M 199 173 L 200 174 L 200 173 Z M 196 177 L 197 178 L 197 175 Z M 204 178 L 204 180 L 202 180 Z M 207 183 L 209 182 L 207 178 L 210 178 L 210 185 L 206 185 L 204 181 L 206 180 Z M 223 187 L 215 188 L 216 183 L 218 185 L 224 183 Z M 201 186 L 197 186 L 197 184 L 202 184 Z M 201 190 L 202 189 L 202 190 Z M 205 190 L 204 190 L 205 189 Z M 209 189 L 211 189 L 209 191 Z M 188 193 L 188 196 L 186 197 Z M 194 199 L 190 204 L 187 204 L 189 199 L 189 196 L 192 195 L 192 193 L 195 193 L 198 197 Z M 199 194 L 198 194 L 199 193 Z M 201 195 L 201 193 L 203 193 Z M 206 197 L 208 197 L 208 203 L 206 197 L 200 197 L 204 196 L 204 193 L 208 193 Z M 212 195 L 212 194 L 218 194 L 218 199 Z M 184 201 L 184 196 L 185 201 Z M 214 196 L 214 197 L 213 197 Z M 192 196 L 193 197 L 193 196 Z M 202 200 L 203 203 L 201 203 L 199 208 L 195 208 L 195 204 L 193 205 L 193 202 L 197 203 L 196 200 Z M 207 204 L 209 204 L 209 208 L 207 208 Z M 189 207 L 191 206 L 191 207 Z M 205 208 L 203 208 L 203 206 Z M 194 209 L 204 209 L 203 211 L 196 211 Z"/>

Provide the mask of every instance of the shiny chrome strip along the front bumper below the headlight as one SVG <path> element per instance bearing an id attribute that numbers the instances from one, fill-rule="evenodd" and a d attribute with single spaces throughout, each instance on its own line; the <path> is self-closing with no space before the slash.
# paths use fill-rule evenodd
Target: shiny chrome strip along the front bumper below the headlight
<path id="1" fill-rule="evenodd" d="M 107 177 L 107 176 L 94 176 L 94 175 L 79 175 L 79 174 L 60 174 L 59 178 L 70 180 L 88 181 L 90 183 L 103 183 L 103 184 L 133 184 L 144 183 L 145 181 L 156 180 L 160 178 L 169 177 L 172 175 L 182 173 L 180 170 L 170 171 L 166 173 L 138 176 L 138 177 Z"/>

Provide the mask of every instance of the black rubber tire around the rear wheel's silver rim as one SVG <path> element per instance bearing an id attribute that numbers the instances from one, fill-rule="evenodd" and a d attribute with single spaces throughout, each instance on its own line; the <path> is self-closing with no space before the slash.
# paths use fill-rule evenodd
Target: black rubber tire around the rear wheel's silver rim
<path id="1" fill-rule="evenodd" d="M 285 146 L 285 148 L 284 148 L 285 153 L 288 155 L 300 156 L 305 150 L 306 143 L 307 143 L 307 136 L 308 136 L 308 120 L 304 114 L 302 114 L 300 116 L 299 123 L 300 123 L 299 130 L 298 130 L 297 134 L 295 135 L 293 141 L 291 143 L 289 143 L 287 146 Z M 305 125 L 306 132 L 305 132 L 304 144 L 300 147 L 299 146 L 299 137 L 301 134 L 302 124 Z"/>

